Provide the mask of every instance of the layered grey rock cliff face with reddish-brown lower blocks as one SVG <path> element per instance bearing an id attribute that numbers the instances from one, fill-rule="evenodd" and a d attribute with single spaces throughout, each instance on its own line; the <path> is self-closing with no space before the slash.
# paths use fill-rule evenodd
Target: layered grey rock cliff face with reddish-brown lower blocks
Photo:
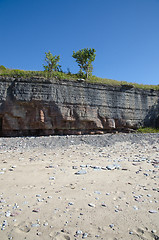
<path id="1" fill-rule="evenodd" d="M 0 77 L 0 135 L 83 134 L 159 127 L 159 91 Z"/>

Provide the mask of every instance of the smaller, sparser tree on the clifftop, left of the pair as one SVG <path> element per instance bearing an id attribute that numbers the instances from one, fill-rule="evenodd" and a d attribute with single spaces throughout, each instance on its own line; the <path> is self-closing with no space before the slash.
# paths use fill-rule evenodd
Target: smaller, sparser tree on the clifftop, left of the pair
<path id="1" fill-rule="evenodd" d="M 53 56 L 52 53 L 49 51 L 48 53 L 45 53 L 45 62 L 47 63 L 47 65 L 43 65 L 43 67 L 45 68 L 45 71 L 48 72 L 52 72 L 54 71 L 60 71 L 61 66 L 58 64 L 58 62 L 60 61 L 60 56 Z"/>

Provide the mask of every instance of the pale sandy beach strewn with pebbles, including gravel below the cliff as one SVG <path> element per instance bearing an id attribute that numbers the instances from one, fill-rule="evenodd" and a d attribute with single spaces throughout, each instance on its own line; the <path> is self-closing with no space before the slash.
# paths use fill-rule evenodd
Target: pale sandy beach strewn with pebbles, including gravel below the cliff
<path id="1" fill-rule="evenodd" d="M 0 138 L 0 239 L 159 239 L 159 134 Z"/>

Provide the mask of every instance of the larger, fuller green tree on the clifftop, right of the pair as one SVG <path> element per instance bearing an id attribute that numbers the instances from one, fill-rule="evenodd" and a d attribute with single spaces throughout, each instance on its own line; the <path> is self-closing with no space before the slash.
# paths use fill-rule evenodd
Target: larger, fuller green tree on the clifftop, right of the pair
<path id="1" fill-rule="evenodd" d="M 77 52 L 73 51 L 72 57 L 76 59 L 76 62 L 80 67 L 80 73 L 82 73 L 82 71 L 86 73 L 86 78 L 88 78 L 88 76 L 92 73 L 92 62 L 95 60 L 96 57 L 95 52 L 96 51 L 94 48 L 84 48 Z"/>

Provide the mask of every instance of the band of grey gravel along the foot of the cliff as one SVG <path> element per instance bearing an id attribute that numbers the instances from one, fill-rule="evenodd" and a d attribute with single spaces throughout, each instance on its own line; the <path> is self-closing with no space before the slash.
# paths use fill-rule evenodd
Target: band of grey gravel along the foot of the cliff
<path id="1" fill-rule="evenodd" d="M 152 136 L 152 138 L 151 138 Z M 43 137 L 15 137 L 0 138 L 0 153 L 6 150 L 24 150 L 32 148 L 52 149 L 62 146 L 89 144 L 97 147 L 113 145 L 114 142 L 126 142 L 130 144 L 148 142 L 148 144 L 159 143 L 159 134 L 104 134 L 104 135 L 69 135 L 69 136 L 43 136 Z"/>

